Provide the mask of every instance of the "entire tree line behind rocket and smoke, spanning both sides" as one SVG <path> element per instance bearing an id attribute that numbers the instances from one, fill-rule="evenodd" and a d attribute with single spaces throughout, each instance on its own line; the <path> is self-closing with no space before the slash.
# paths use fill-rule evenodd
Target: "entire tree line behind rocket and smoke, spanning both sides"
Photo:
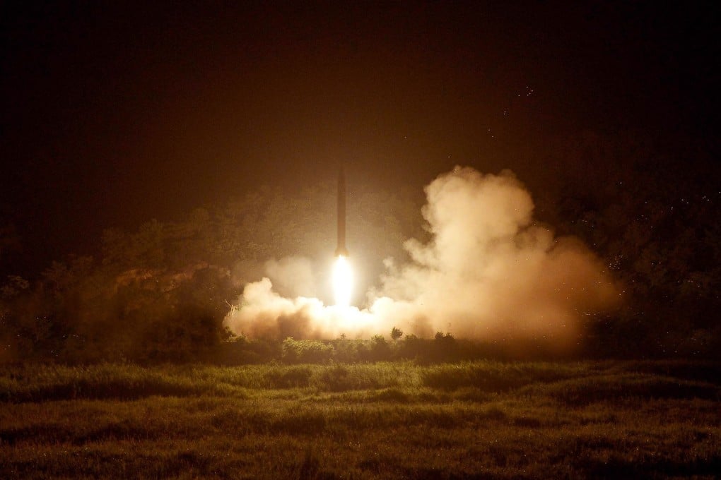
<path id="1" fill-rule="evenodd" d="M 586 134 L 557 155 L 546 188 L 532 192 L 537 216 L 559 234 L 580 237 L 624 292 L 621 309 L 585 320 L 585 354 L 718 356 L 721 176 L 708 150 Z M 381 273 L 383 258 L 404 258 L 403 240 L 424 235 L 420 205 L 406 193 L 372 186 L 354 192 L 348 225 L 358 235 L 349 238 L 364 242 L 355 251 L 369 279 Z M 282 358 L 286 339 L 254 344 L 234 338 L 222 320 L 268 259 L 332 252 L 335 216 L 328 212 L 335 212 L 332 184 L 296 192 L 266 187 L 180 221 L 105 230 L 99 255 L 68 255 L 35 279 L 2 272 L 0 361 Z M 17 230 L 0 225 L 0 255 L 18 243 Z M 376 344 L 368 351 L 381 351 L 372 350 Z"/>

